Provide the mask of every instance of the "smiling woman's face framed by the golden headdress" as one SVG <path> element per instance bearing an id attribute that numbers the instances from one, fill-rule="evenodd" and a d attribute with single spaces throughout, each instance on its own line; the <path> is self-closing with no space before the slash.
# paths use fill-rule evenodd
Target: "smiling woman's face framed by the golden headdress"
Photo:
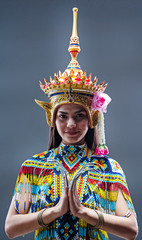
<path id="1" fill-rule="evenodd" d="M 83 144 L 88 130 L 88 116 L 78 104 L 61 105 L 56 114 L 56 128 L 66 145 Z"/>

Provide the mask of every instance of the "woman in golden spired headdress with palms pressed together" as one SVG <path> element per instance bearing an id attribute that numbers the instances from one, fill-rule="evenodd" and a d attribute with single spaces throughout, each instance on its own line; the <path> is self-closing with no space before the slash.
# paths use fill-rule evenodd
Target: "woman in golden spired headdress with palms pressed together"
<path id="1" fill-rule="evenodd" d="M 74 9 L 74 21 L 76 14 Z M 103 93 L 106 86 L 97 86 L 80 69 L 77 41 L 73 34 L 73 58 L 65 73 L 41 84 L 50 98 L 50 103 L 36 100 L 51 127 L 49 151 L 22 164 L 6 219 L 9 238 L 34 230 L 36 240 L 108 239 L 107 232 L 124 239 L 137 236 L 123 171 L 104 154 L 102 113 L 110 99 Z"/>

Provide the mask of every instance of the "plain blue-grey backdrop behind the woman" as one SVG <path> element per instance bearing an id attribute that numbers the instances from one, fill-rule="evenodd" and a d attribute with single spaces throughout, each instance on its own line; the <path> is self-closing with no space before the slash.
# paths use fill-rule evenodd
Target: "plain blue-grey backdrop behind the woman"
<path id="1" fill-rule="evenodd" d="M 21 163 L 46 150 L 45 113 L 34 98 L 47 100 L 38 81 L 65 70 L 78 7 L 79 63 L 109 83 L 112 102 L 105 115 L 110 156 L 127 176 L 141 226 L 142 1 L 0 1 L 0 239 Z M 33 234 L 25 236 L 32 239 Z M 141 239 L 140 229 L 137 239 Z M 17 239 L 23 239 L 19 237 Z M 111 236 L 110 239 L 118 239 Z"/>

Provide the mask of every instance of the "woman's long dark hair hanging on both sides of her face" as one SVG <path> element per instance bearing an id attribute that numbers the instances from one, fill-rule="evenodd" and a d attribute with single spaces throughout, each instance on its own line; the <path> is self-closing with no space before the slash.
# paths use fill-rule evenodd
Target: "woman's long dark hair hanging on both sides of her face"
<path id="1" fill-rule="evenodd" d="M 85 136 L 85 140 L 86 140 L 87 146 L 90 149 L 96 148 L 96 146 L 99 144 L 97 127 L 88 128 L 88 131 Z M 61 141 L 62 141 L 62 138 L 59 135 L 56 126 L 51 127 L 50 132 L 49 132 L 48 150 L 50 150 L 52 148 L 57 148 L 60 145 Z"/>

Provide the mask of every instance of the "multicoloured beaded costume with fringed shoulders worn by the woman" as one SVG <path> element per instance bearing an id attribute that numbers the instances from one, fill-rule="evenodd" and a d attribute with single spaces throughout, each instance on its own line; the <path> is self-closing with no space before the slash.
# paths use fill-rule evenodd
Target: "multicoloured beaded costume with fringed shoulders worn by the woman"
<path id="1" fill-rule="evenodd" d="M 77 180 L 77 193 L 85 207 L 114 215 L 117 192 L 120 188 L 128 208 L 133 209 L 124 173 L 115 160 L 94 155 L 86 144 L 82 146 L 60 144 L 58 148 L 34 155 L 22 164 L 15 187 L 17 213 L 23 188 L 25 194 L 27 191 L 29 194 L 29 213 L 53 207 L 58 203 L 63 190 L 63 176 L 58 166 L 48 163 L 48 159 L 54 159 L 62 164 L 71 181 L 82 166 L 88 162 L 95 163 L 93 170 L 83 171 Z M 68 212 L 46 228 L 36 230 L 35 240 L 40 239 L 106 240 L 108 235 L 101 229 L 92 230 L 84 220 Z"/>

